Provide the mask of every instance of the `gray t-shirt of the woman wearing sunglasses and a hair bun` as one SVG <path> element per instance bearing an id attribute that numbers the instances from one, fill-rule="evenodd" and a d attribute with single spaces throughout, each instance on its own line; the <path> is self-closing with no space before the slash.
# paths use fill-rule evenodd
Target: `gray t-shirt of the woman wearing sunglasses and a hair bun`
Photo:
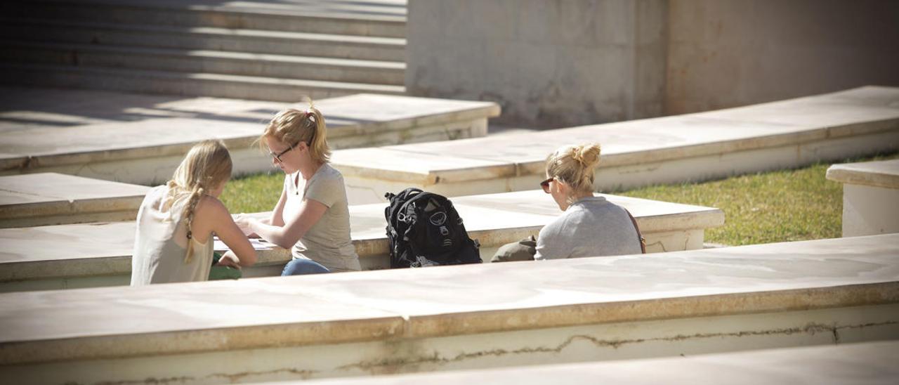
<path id="1" fill-rule="evenodd" d="M 540 230 L 535 260 L 640 254 L 628 213 L 604 197 L 575 201 Z"/>

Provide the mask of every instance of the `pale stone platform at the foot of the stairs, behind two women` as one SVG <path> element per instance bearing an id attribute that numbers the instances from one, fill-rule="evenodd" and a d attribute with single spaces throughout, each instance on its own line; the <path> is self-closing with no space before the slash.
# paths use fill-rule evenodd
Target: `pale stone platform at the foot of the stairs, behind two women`
<path id="1" fill-rule="evenodd" d="M 202 139 L 223 139 L 232 150 L 247 148 L 275 113 L 287 107 L 307 108 L 306 103 L 120 96 L 92 91 L 4 88 L 4 94 L 0 171 L 7 174 L 49 166 L 183 155 Z M 48 103 L 54 99 L 59 103 Z M 382 94 L 324 99 L 316 101 L 316 107 L 325 114 L 329 139 L 337 144 L 342 138 L 383 137 L 416 127 L 459 135 L 455 132 L 458 128 L 449 132 L 441 125 L 485 120 L 500 113 L 499 106 L 490 102 Z M 387 143 L 410 142 L 415 135 L 427 138 L 426 134 L 408 132 Z M 486 135 L 486 131 L 478 129 L 475 134 Z"/>

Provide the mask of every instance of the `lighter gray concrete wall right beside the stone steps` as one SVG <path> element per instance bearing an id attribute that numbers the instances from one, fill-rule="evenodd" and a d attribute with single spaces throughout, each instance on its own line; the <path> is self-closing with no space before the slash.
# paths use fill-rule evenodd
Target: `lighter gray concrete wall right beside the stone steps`
<path id="1" fill-rule="evenodd" d="M 663 111 L 666 0 L 410 0 L 409 94 L 563 127 Z"/>

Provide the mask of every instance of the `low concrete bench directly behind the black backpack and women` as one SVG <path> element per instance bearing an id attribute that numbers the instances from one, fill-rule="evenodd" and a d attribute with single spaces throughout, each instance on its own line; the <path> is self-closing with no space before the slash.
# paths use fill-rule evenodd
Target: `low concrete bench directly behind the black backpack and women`
<path id="1" fill-rule="evenodd" d="M 607 195 L 627 207 L 644 233 L 649 252 L 702 247 L 705 228 L 724 224 L 721 210 Z M 542 191 L 453 199 L 469 235 L 489 261 L 497 247 L 537 235 L 561 211 Z M 384 204 L 351 206 L 351 236 L 364 270 L 389 267 Z M 259 213 L 257 215 L 268 215 Z M 0 291 L 30 291 L 127 285 L 134 247 L 134 222 L 0 229 Z M 280 275 L 288 250 L 258 252 L 245 277 Z"/>

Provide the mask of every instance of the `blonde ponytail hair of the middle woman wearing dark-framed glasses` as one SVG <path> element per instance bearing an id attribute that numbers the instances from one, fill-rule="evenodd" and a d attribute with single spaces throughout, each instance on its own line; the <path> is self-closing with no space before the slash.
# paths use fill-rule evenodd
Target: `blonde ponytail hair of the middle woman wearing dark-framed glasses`
<path id="1" fill-rule="evenodd" d="M 309 156 L 312 160 L 328 163 L 331 160 L 331 148 L 328 147 L 326 130 L 325 117 L 309 99 L 306 111 L 289 108 L 271 118 L 263 130 L 263 135 L 259 137 L 260 147 L 264 146 L 265 138 L 278 139 L 289 146 L 297 146 L 299 142 L 304 142 L 309 146 Z"/>

